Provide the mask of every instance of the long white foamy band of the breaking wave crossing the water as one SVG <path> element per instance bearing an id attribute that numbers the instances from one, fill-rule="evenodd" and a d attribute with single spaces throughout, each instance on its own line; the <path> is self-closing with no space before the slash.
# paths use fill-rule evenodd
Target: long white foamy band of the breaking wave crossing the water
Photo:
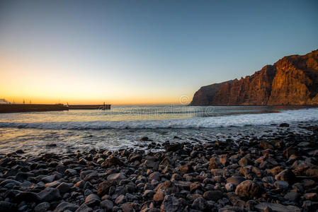
<path id="1" fill-rule="evenodd" d="M 222 117 L 194 117 L 189 119 L 98 121 L 98 122 L 0 122 L 0 127 L 33 129 L 184 129 L 222 126 L 269 125 L 288 122 L 317 122 L 318 108 L 285 110 L 278 113 L 239 114 Z"/>

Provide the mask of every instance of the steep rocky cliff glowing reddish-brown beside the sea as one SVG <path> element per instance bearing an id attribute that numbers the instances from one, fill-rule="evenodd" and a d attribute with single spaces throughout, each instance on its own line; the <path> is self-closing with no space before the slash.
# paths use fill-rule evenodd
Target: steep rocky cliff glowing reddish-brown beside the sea
<path id="1" fill-rule="evenodd" d="M 198 90 L 191 105 L 318 105 L 318 49 Z"/>

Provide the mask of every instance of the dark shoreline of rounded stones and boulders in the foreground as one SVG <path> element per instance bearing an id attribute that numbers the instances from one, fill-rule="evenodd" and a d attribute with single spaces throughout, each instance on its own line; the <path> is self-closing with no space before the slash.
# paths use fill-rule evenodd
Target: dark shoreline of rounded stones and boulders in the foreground
<path id="1" fill-rule="evenodd" d="M 317 211 L 318 126 L 280 128 L 238 142 L 144 137 L 148 151 L 18 150 L 0 156 L 0 211 Z"/>

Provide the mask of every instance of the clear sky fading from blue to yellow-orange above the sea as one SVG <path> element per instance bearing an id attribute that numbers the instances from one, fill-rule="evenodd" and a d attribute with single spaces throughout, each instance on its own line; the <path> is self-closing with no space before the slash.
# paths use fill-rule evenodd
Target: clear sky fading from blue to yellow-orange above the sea
<path id="1" fill-rule="evenodd" d="M 178 104 L 318 49 L 318 1 L 0 0 L 0 98 Z"/>

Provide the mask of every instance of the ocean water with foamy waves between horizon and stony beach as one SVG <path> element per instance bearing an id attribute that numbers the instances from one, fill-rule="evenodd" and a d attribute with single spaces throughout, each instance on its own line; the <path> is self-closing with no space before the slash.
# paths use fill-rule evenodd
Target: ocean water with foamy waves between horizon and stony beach
<path id="1" fill-rule="evenodd" d="M 251 139 L 282 130 L 309 133 L 317 107 L 127 105 L 111 110 L 0 114 L 0 153 L 67 153 L 79 150 L 147 148 L 165 141 L 205 143 Z M 249 135 L 248 137 L 246 137 Z M 149 141 L 140 141 L 147 136 Z M 159 151 L 160 145 L 154 148 Z"/>

